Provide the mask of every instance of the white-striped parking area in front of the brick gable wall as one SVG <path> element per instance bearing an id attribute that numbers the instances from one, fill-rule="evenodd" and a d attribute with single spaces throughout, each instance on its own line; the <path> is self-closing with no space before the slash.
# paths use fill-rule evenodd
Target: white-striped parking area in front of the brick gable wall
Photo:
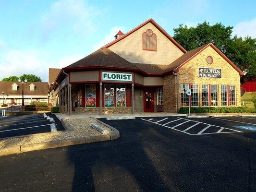
<path id="1" fill-rule="evenodd" d="M 141 118 L 141 120 L 189 135 L 256 131 L 255 117 L 234 116 L 193 119 L 183 117 L 154 117 Z"/>

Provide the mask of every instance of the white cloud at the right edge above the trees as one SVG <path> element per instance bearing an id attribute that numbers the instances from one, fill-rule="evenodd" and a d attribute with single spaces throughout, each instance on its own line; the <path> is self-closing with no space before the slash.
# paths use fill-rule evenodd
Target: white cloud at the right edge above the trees
<path id="1" fill-rule="evenodd" d="M 256 38 L 256 17 L 250 21 L 240 22 L 233 28 L 233 35 L 237 36 L 251 36 Z"/>

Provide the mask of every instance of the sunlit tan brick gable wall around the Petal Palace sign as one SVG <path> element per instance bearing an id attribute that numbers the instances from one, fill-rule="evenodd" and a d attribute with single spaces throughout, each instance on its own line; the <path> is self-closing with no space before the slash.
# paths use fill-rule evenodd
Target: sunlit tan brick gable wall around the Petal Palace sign
<path id="1" fill-rule="evenodd" d="M 207 64 L 207 56 L 213 57 L 213 63 Z M 222 69 L 221 78 L 199 78 L 198 67 Z M 208 47 L 179 70 L 179 106 L 181 107 L 181 84 L 199 84 L 199 106 L 202 107 L 202 84 L 218 84 L 218 100 L 221 106 L 221 84 L 236 86 L 236 105 L 241 106 L 240 75 L 213 48 Z M 210 89 L 210 87 L 209 87 Z M 166 101 L 164 101 L 166 102 Z"/>

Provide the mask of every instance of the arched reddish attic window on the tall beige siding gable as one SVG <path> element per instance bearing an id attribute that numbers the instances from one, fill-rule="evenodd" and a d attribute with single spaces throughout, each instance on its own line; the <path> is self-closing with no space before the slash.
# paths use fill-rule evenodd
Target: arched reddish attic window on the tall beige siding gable
<path id="1" fill-rule="evenodd" d="M 157 51 L 157 36 L 151 29 L 147 29 L 142 35 L 143 50 Z"/>

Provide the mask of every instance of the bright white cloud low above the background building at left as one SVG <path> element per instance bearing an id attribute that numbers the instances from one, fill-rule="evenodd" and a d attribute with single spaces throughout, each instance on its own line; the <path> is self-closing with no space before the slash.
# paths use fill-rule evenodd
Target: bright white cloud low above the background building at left
<path id="1" fill-rule="evenodd" d="M 44 58 L 46 53 L 37 50 L 8 51 L 0 60 L 0 80 L 9 76 L 20 76 L 23 74 L 35 74 L 42 81 L 48 82 L 49 68 L 63 68 L 82 58 L 79 54 L 69 55 L 52 64 Z"/>

